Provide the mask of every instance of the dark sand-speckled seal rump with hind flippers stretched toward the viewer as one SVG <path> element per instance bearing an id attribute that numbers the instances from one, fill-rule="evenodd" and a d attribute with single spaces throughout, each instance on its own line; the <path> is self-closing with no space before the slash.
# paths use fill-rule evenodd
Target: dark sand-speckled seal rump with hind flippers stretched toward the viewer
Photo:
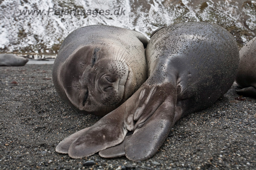
<path id="1" fill-rule="evenodd" d="M 92 127 L 64 139 L 57 150 L 72 158 L 99 151 L 106 158 L 152 157 L 176 121 L 210 107 L 228 91 L 239 53 L 226 29 L 192 22 L 159 29 L 148 43 L 146 58 L 149 77 L 138 91 Z"/>

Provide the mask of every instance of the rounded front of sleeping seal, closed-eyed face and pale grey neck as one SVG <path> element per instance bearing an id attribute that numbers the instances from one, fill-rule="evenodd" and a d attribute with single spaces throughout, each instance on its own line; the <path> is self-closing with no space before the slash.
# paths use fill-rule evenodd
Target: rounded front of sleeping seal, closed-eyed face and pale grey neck
<path id="1" fill-rule="evenodd" d="M 106 25 L 76 29 L 53 66 L 59 96 L 84 113 L 104 116 L 146 81 L 148 40 L 137 31 Z"/>

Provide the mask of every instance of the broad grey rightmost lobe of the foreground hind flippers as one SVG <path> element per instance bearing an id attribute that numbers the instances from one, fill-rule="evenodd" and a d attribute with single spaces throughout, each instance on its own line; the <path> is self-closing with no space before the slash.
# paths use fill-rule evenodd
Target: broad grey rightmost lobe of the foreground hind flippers
<path id="1" fill-rule="evenodd" d="M 126 157 L 129 160 L 146 160 L 162 146 L 174 125 L 176 99 L 168 96 L 154 114 L 125 143 Z"/>

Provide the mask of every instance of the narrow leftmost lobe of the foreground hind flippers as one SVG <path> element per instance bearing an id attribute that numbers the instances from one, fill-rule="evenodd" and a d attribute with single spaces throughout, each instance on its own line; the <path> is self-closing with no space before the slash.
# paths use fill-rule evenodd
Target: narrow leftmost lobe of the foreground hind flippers
<path id="1" fill-rule="evenodd" d="M 80 137 L 83 133 L 85 133 L 90 127 L 87 127 L 85 129 L 82 129 L 68 137 L 66 137 L 65 139 L 63 139 L 56 147 L 56 152 L 59 153 L 68 153 L 68 149 L 70 147 L 70 145 L 78 138 Z"/>

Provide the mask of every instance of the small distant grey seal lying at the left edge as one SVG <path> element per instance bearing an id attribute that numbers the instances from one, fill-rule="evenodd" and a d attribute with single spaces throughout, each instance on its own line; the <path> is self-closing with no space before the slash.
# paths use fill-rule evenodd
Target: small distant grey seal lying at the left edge
<path id="1" fill-rule="evenodd" d="M 0 66 L 24 66 L 28 59 L 13 54 L 0 54 Z"/>

